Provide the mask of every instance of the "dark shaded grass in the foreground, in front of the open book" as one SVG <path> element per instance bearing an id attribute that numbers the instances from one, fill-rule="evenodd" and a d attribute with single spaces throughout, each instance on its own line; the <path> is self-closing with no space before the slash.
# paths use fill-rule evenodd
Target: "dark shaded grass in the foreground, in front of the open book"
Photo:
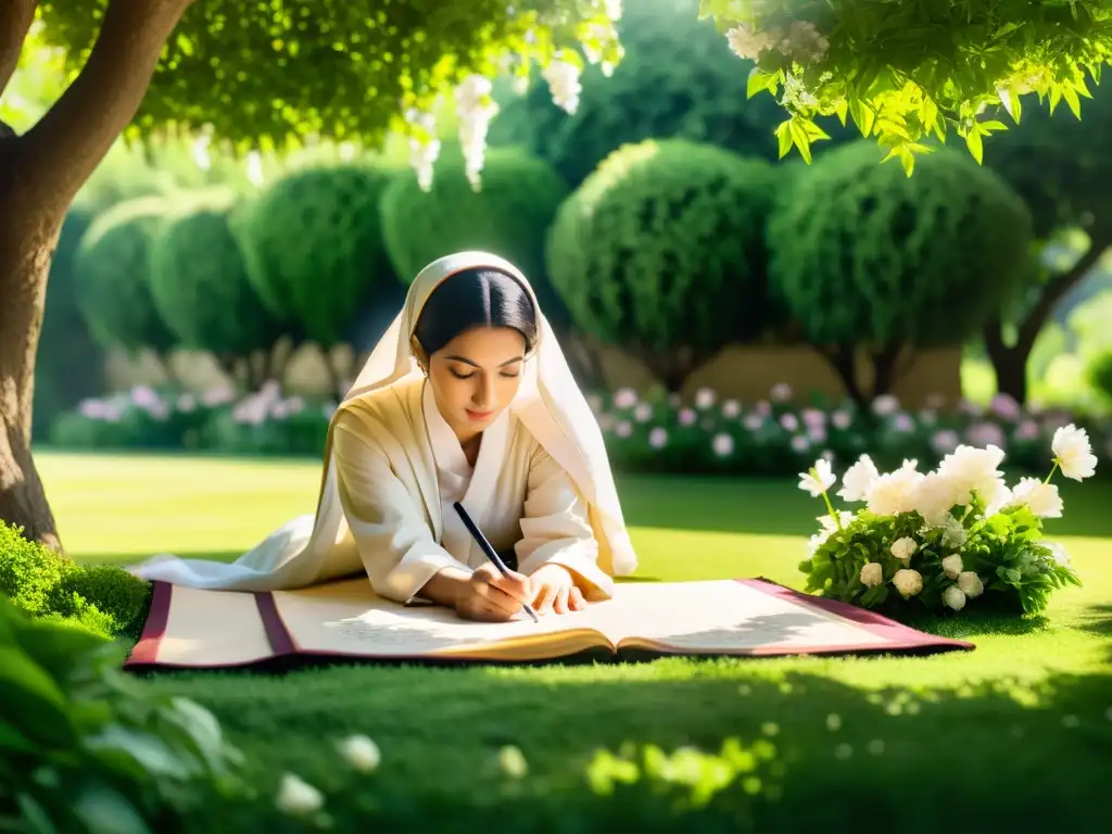
<path id="1" fill-rule="evenodd" d="M 935 834 L 1106 823 L 1112 674 L 914 692 L 759 668 L 341 667 L 152 685 L 207 705 L 248 754 L 260 798 L 209 812 L 241 832 L 306 830 L 274 810 L 285 772 L 325 792 L 339 831 Z M 371 776 L 341 766 L 332 742 L 350 733 L 383 752 Z M 524 775 L 499 767 L 504 745 L 520 749 Z"/>

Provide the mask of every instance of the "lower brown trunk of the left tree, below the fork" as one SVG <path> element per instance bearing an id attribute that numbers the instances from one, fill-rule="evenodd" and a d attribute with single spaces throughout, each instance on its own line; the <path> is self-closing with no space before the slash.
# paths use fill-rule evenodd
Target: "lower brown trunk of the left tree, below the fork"
<path id="1" fill-rule="evenodd" d="M 0 180 L 2 182 L 2 180 Z M 0 201 L 0 217 L 12 217 Z M 0 229 L 0 519 L 21 527 L 23 537 L 61 550 L 54 516 L 31 458 L 34 355 L 42 329 L 50 256 L 61 221 L 51 234 Z"/>

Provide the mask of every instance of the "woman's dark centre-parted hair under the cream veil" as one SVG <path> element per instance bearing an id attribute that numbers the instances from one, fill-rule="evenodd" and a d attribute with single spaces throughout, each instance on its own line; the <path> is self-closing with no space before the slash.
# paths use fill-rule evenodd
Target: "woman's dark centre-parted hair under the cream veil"
<path id="1" fill-rule="evenodd" d="M 529 294 L 497 269 L 465 269 L 441 281 L 425 301 L 414 335 L 431 356 L 473 327 L 513 327 L 525 337 L 526 353 L 537 340 Z"/>

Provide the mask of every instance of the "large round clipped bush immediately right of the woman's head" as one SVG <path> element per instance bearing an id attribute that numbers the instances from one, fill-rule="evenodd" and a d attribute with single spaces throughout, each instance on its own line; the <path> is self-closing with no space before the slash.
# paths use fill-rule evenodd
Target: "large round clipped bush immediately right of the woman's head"
<path id="1" fill-rule="evenodd" d="M 626 146 L 568 198 L 548 237 L 575 324 L 635 350 L 671 390 L 731 341 L 774 326 L 764 218 L 775 169 L 685 140 Z"/>

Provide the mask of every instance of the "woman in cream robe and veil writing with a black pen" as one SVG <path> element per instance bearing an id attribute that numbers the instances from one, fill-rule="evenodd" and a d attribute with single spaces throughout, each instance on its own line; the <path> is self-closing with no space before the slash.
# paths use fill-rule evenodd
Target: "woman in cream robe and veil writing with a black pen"
<path id="1" fill-rule="evenodd" d="M 516 570 L 503 577 L 459 500 Z M 329 424 L 317 512 L 235 563 L 172 556 L 151 580 L 229 590 L 365 572 L 379 595 L 506 620 L 613 592 L 634 554 L 602 433 L 524 275 L 485 252 L 441 258 Z"/>

